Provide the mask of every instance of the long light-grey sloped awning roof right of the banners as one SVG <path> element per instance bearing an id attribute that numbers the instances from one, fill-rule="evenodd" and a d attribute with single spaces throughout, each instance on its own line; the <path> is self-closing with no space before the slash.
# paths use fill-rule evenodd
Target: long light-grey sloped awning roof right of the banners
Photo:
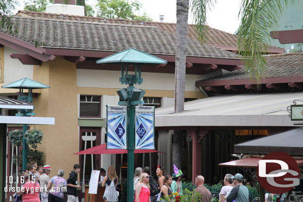
<path id="1" fill-rule="evenodd" d="M 303 92 L 218 95 L 186 102 L 181 113 L 157 108 L 155 127 L 294 127 L 287 107 L 296 99 Z"/>

